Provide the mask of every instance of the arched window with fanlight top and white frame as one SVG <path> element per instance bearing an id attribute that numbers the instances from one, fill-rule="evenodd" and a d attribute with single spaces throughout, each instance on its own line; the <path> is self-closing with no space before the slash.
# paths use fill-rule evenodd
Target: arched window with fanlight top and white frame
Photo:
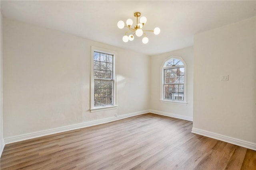
<path id="1" fill-rule="evenodd" d="M 162 66 L 162 100 L 186 103 L 186 63 L 170 57 Z"/>

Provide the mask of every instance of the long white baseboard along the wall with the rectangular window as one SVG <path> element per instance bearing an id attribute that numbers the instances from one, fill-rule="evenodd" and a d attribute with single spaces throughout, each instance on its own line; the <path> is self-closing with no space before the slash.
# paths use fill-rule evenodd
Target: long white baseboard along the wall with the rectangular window
<path id="1" fill-rule="evenodd" d="M 108 122 L 111 122 L 111 121 L 125 119 L 125 118 L 136 116 L 136 115 L 142 115 L 142 114 L 149 113 L 149 112 L 150 112 L 149 110 L 138 111 L 138 112 L 129 113 L 129 114 L 125 114 L 125 115 L 118 115 L 117 117 L 109 117 L 109 118 L 106 118 L 106 119 L 88 121 L 88 122 L 78 123 L 78 124 L 75 124 L 75 125 L 68 125 L 68 126 L 64 126 L 64 127 L 48 129 L 48 130 L 45 130 L 45 131 L 37 131 L 37 132 L 33 132 L 33 133 L 26 133 L 26 134 L 22 134 L 22 135 L 16 135 L 16 136 L 4 138 L 4 144 L 6 145 L 6 144 L 9 144 L 9 143 L 24 141 L 24 140 L 33 139 L 33 138 L 36 138 L 36 137 L 42 137 L 42 136 L 46 136 L 46 135 L 52 135 L 52 134 L 55 134 L 55 133 L 80 129 L 80 128 L 94 126 L 94 125 L 100 125 L 100 124 L 103 124 L 103 123 L 108 123 Z"/>

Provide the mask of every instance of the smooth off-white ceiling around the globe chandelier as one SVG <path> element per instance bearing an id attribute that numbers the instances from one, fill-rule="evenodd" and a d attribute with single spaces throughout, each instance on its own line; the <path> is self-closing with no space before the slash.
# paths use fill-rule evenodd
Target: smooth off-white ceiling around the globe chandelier
<path id="1" fill-rule="evenodd" d="M 193 35 L 256 16 L 256 1 L 3 1 L 6 18 L 71 33 L 124 49 L 155 55 L 193 45 Z M 146 16 L 145 29 L 160 27 L 159 35 L 147 33 L 124 43 L 126 28 L 117 22 L 134 12 Z"/>

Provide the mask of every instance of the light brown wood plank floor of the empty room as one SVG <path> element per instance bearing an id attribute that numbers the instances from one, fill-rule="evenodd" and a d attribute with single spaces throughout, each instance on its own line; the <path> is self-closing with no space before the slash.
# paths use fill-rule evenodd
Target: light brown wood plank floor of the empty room
<path id="1" fill-rule="evenodd" d="M 152 113 L 8 144 L 1 170 L 256 170 L 256 151 Z"/>

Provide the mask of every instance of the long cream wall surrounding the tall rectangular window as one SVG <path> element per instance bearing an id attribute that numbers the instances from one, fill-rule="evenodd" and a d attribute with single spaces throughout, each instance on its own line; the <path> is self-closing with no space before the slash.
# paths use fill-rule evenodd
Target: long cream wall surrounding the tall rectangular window
<path id="1" fill-rule="evenodd" d="M 143 111 L 147 55 L 4 18 L 4 138 Z M 117 51 L 118 109 L 90 113 L 91 46 Z"/>

